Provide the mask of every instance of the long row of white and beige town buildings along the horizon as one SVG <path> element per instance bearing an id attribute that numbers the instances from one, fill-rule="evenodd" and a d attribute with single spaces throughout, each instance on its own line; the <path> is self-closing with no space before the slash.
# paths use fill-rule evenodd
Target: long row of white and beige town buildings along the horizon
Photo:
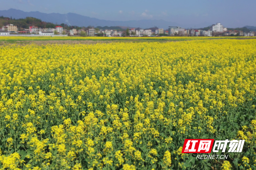
<path id="1" fill-rule="evenodd" d="M 250 31 L 248 33 L 237 30 L 227 30 L 221 23 L 216 23 L 209 26 L 209 30 L 200 29 L 185 29 L 178 26 L 169 26 L 168 31 L 163 28 L 158 28 L 155 31 L 151 29 L 132 28 L 129 29 L 129 33 L 126 31 L 117 30 L 99 30 L 96 28 L 79 29 L 76 28 L 65 30 L 62 26 L 56 26 L 55 28 L 38 28 L 37 26 L 29 26 L 28 29 L 18 31 L 17 26 L 9 24 L 0 28 L 0 35 L 10 34 L 38 34 L 51 36 L 54 34 L 62 34 L 65 36 L 105 36 L 105 37 L 154 37 L 154 36 L 186 36 L 186 37 L 216 37 L 216 36 L 245 36 L 253 37 L 256 36 L 256 31 Z M 128 34 L 128 35 L 127 35 Z"/>

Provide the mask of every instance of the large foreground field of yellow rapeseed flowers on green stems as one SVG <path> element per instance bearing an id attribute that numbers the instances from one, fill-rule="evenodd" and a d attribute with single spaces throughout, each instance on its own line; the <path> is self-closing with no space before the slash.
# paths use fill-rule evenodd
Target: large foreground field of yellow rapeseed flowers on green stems
<path id="1" fill-rule="evenodd" d="M 1 170 L 256 169 L 256 40 L 1 46 L 0 97 Z"/>

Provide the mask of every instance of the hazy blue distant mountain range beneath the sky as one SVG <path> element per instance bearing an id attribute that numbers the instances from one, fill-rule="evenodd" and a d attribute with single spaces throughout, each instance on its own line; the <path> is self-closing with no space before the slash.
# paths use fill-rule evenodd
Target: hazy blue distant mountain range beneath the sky
<path id="1" fill-rule="evenodd" d="M 12 17 L 12 18 L 26 18 L 26 17 L 35 17 L 41 19 L 45 22 L 51 23 L 65 23 L 71 26 L 126 26 L 133 28 L 150 28 L 153 26 L 159 26 L 160 28 L 168 28 L 168 26 L 180 26 L 178 23 L 168 22 L 165 20 L 130 20 L 130 21 L 110 21 L 110 20 L 99 20 L 97 18 L 86 17 L 79 14 L 67 13 L 67 14 L 58 14 L 58 13 L 41 13 L 39 11 L 35 12 L 24 12 L 17 9 L 9 9 L 0 11 L 0 16 Z"/>

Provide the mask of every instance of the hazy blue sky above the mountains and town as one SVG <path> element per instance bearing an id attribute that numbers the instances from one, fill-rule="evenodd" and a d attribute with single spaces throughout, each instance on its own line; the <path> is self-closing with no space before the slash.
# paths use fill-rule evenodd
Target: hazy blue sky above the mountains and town
<path id="1" fill-rule="evenodd" d="M 166 20 L 190 27 L 222 23 L 256 26 L 256 0 L 0 0 L 0 10 L 66 14 L 104 20 Z"/>

